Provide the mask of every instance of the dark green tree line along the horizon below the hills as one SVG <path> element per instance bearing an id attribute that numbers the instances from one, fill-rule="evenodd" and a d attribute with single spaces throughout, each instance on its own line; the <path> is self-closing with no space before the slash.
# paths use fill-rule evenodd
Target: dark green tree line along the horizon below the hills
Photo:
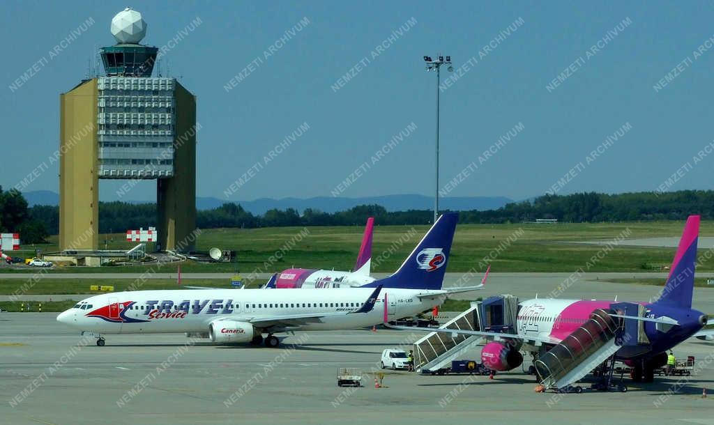
<path id="1" fill-rule="evenodd" d="M 21 194 L 12 190 L 0 193 L 0 205 L 11 205 L 8 212 L 0 208 L 0 228 L 14 231 L 19 225 L 40 223 L 49 234 L 59 232 L 59 208 L 35 205 L 26 208 Z M 8 198 L 9 200 L 3 201 Z M 21 213 L 22 204 L 26 214 Z M 685 220 L 690 214 L 714 219 L 713 190 L 680 190 L 668 193 L 574 193 L 573 195 L 543 195 L 533 200 L 509 203 L 497 210 L 461 211 L 461 223 L 523 222 L 538 218 L 555 218 L 561 222 L 617 222 L 646 220 Z M 201 229 L 216 227 L 282 227 L 363 225 L 367 217 L 375 217 L 379 225 L 425 225 L 431 223 L 431 210 L 388 212 L 381 205 L 359 205 L 337 213 L 323 213 L 308 208 L 302 215 L 293 208 L 268 210 L 255 215 L 241 205 L 226 203 L 211 210 L 200 210 L 196 225 Z M 99 231 L 124 232 L 156 224 L 156 204 L 99 203 Z M 24 227 L 28 228 L 28 227 Z M 46 237 L 46 232 L 44 237 Z M 26 235 L 22 235 L 26 240 Z"/>

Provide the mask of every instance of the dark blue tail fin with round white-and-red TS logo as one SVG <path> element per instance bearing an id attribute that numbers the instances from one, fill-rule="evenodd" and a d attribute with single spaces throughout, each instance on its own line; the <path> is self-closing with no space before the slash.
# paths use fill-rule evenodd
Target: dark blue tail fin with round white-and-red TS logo
<path id="1" fill-rule="evenodd" d="M 363 287 L 441 290 L 457 221 L 458 213 L 441 215 L 399 270 Z"/>

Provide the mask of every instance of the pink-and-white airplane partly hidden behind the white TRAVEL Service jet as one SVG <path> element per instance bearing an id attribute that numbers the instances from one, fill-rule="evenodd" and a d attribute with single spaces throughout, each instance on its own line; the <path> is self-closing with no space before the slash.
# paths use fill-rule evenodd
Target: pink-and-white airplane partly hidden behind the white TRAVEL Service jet
<path id="1" fill-rule="evenodd" d="M 279 272 L 268 281 L 265 289 L 315 289 L 338 287 L 361 287 L 376 279 L 371 277 L 372 264 L 372 232 L 374 217 L 367 219 L 367 225 L 362 235 L 362 245 L 359 248 L 357 262 L 352 272 L 314 269 L 288 269 Z"/>

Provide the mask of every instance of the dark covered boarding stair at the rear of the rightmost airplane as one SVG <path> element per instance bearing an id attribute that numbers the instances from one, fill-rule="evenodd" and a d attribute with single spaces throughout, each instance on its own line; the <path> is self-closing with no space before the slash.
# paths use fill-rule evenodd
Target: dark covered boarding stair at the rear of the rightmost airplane
<path id="1" fill-rule="evenodd" d="M 649 340 L 643 322 L 613 317 L 615 312 L 627 316 L 644 316 L 644 307 L 630 302 L 610 304 L 610 309 L 596 309 L 583 326 L 575 329 L 535 361 L 540 384 L 555 391 L 580 392 L 573 386 L 594 369 L 600 371 L 600 382 L 593 389 L 627 391 L 627 387 L 612 382 L 615 353 L 620 349 L 635 353 L 648 349 Z"/>

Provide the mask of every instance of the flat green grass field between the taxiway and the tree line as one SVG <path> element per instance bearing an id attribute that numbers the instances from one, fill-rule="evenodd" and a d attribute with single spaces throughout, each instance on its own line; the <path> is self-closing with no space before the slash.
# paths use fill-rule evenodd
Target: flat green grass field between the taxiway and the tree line
<path id="1" fill-rule="evenodd" d="M 449 259 L 449 272 L 466 272 L 472 267 L 486 270 L 483 258 L 493 253 L 493 272 L 573 272 L 586 267 L 588 260 L 602 247 L 565 243 L 588 240 L 613 240 L 629 230 L 628 238 L 678 237 L 683 222 L 623 222 L 558 225 L 458 225 Z M 414 230 L 411 230 L 411 229 Z M 308 235 L 297 240 L 302 227 L 268 227 L 261 229 L 209 229 L 197 238 L 198 250 L 220 247 L 236 250 L 233 264 L 200 264 L 189 262 L 183 272 L 236 272 L 243 274 L 277 272 L 288 267 L 334 268 L 349 270 L 357 256 L 362 226 L 308 227 Z M 373 240 L 373 272 L 393 272 L 421 239 L 428 226 L 377 226 Z M 702 222 L 700 235 L 714 236 L 714 222 Z M 508 243 L 509 238 L 511 243 Z M 126 249 L 131 244 L 124 235 L 101 235 L 100 245 L 109 240 L 109 249 Z M 43 252 L 56 250 L 54 243 L 39 246 Z M 269 259 L 290 240 L 296 241 L 278 260 Z M 401 241 L 401 243 L 397 243 Z M 505 246 L 496 253 L 499 245 Z M 508 245 L 508 246 L 506 246 Z M 31 247 L 24 247 L 31 248 Z M 588 271 L 644 272 L 669 265 L 674 248 L 615 247 Z M 703 252 L 703 250 L 700 250 Z M 479 264 L 481 262 L 481 264 Z M 175 267 L 175 266 L 166 266 Z M 61 267 L 57 272 L 143 272 L 146 267 Z M 698 270 L 714 270 L 714 259 L 703 262 Z M 13 272 L 5 267 L 0 272 Z M 53 272 L 55 272 L 53 270 Z"/>

